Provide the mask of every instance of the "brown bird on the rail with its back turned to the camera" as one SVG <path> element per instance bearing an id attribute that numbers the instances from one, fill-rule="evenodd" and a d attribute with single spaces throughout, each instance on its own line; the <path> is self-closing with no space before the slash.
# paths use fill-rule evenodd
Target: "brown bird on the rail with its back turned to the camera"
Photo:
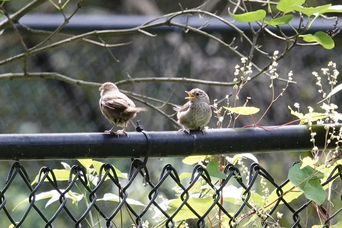
<path id="1" fill-rule="evenodd" d="M 98 89 L 101 91 L 100 108 L 102 114 L 109 120 L 109 122 L 115 124 L 118 127 L 123 127 L 122 130 L 117 132 L 113 131 L 113 128 L 105 133 L 118 133 L 128 134 L 125 131 L 127 122 L 136 116 L 137 112 L 146 111 L 146 108 L 135 107 L 130 98 L 121 93 L 118 87 L 111 82 L 105 82 Z"/>

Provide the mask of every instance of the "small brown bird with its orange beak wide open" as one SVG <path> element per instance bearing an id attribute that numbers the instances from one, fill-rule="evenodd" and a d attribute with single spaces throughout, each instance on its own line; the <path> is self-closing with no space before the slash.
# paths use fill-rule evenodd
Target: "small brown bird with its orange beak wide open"
<path id="1" fill-rule="evenodd" d="M 173 110 L 177 111 L 178 122 L 183 125 L 183 129 L 190 134 L 189 130 L 200 130 L 204 134 L 201 126 L 209 123 L 211 118 L 210 100 L 208 95 L 200 89 L 193 89 L 190 92 L 185 91 L 189 96 L 185 99 L 189 101 L 182 107 L 174 107 Z"/>

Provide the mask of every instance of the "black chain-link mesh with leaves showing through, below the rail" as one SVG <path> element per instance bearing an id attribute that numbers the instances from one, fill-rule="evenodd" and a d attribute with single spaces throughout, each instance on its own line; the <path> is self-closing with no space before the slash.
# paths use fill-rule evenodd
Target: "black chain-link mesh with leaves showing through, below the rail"
<path id="1" fill-rule="evenodd" d="M 142 162 L 132 159 L 126 184 L 119 181 L 117 170 L 111 164 L 104 163 L 99 170 L 101 175 L 99 174 L 92 183 L 89 183 L 87 178 L 84 178 L 86 176 L 90 177 L 86 168 L 74 165 L 69 172 L 68 184 L 63 186 L 63 184 L 60 184 L 63 182 L 57 182 L 55 179 L 55 172 L 57 171 L 53 171 L 49 167 L 42 167 L 38 174 L 40 178 L 37 179 L 35 184 L 31 185 L 24 167 L 21 163 L 15 162 L 5 183 L 2 182 L 0 216 L 3 224 L 1 226 L 33 227 L 32 224 L 25 223 L 25 219 L 35 216 L 35 227 L 122 227 L 122 224 L 124 224 L 123 227 L 128 227 L 127 224 L 134 224 L 129 225 L 130 227 L 147 227 L 145 221 L 152 220 L 149 217 L 151 209 L 157 212 L 156 214 L 159 214 L 158 216 L 154 215 L 154 219 L 159 217 L 159 222 L 163 221 L 161 227 L 184 227 L 176 226 L 177 221 L 179 222 L 182 217 L 192 218 L 187 220 L 192 224 L 189 227 L 208 227 L 208 216 L 210 216 L 212 210 L 220 216 L 224 224 L 221 227 L 238 227 L 241 224 L 246 224 L 247 227 L 311 227 L 313 224 L 324 224 L 320 227 L 329 227 L 333 224 L 333 220 L 336 222 L 336 220 L 341 219 L 339 214 L 342 210 L 341 204 L 339 204 L 341 203 L 339 187 L 333 188 L 332 192 L 329 192 L 328 204 L 335 203 L 332 211 L 327 211 L 324 206 L 316 205 L 311 200 L 305 200 L 305 198 L 290 197 L 291 200 L 287 201 L 284 193 L 288 193 L 286 192 L 288 189 L 285 190 L 284 186 L 289 182 L 289 179 L 283 183 L 277 183 L 257 163 L 250 166 L 250 172 L 247 175 L 248 179 L 241 178 L 242 174 L 237 166 L 226 165 L 224 173 L 227 177 L 216 184 L 212 184 L 212 177 L 209 176 L 208 171 L 202 165 L 194 166 L 192 174 L 189 175 L 190 181 L 184 184 L 175 167 L 170 164 L 163 167 L 158 181 L 153 183 L 149 178 L 148 168 L 145 163 L 146 160 Z M 338 179 L 342 179 L 341 174 L 342 166 L 337 165 L 332 169 L 330 176 L 322 183 L 322 186 L 327 187 L 334 180 L 338 182 Z M 141 182 L 141 189 L 135 189 L 129 194 L 128 189 L 133 187 L 132 183 L 137 179 Z M 8 207 L 8 203 L 16 201 L 16 199 L 6 197 L 9 191 L 13 191 L 11 185 L 15 181 L 21 182 L 23 188 L 27 189 L 28 200 L 21 205 L 22 207 L 25 205 L 26 209 L 19 215 L 17 209 L 12 211 L 12 208 Z M 178 198 L 176 200 L 178 204 L 174 204 L 177 206 L 172 207 L 169 204 L 166 207 L 167 204 L 159 203 L 161 194 L 158 190 L 166 183 L 168 183 L 168 186 L 177 186 L 178 191 L 175 198 Z M 260 203 L 261 199 L 258 199 L 255 192 L 260 191 L 258 189 L 260 183 L 261 185 L 267 185 L 267 189 L 275 190 L 277 194 L 275 200 L 267 202 L 265 208 L 257 206 L 257 202 Z M 198 191 L 195 197 L 191 192 L 199 185 L 205 186 L 205 188 L 200 187 L 199 189 L 202 189 L 202 191 Z M 339 185 L 337 184 L 337 186 Z M 81 197 L 87 198 L 87 204 L 81 205 L 81 201 L 75 201 L 75 198 L 79 196 L 70 193 L 75 188 L 84 192 L 84 196 Z M 147 203 L 137 206 L 137 201 L 133 199 L 141 195 L 144 188 L 148 188 L 146 193 L 146 198 L 148 196 Z M 242 188 L 242 198 L 227 203 L 229 200 L 226 200 L 227 198 L 223 193 L 226 188 L 231 188 L 232 191 Z M 43 204 L 39 203 L 42 198 L 40 195 L 42 191 L 54 191 L 55 197 L 53 198 L 56 202 L 44 208 Z M 334 197 L 333 192 L 336 192 L 339 197 Z M 117 194 L 116 202 L 110 201 L 108 206 L 103 203 L 104 201 L 99 201 L 104 193 Z M 263 193 L 267 195 L 265 189 Z M 202 200 L 201 204 L 196 201 L 200 198 Z M 292 205 L 293 201 L 295 201 L 293 205 L 296 206 Z M 284 214 L 285 219 L 279 219 L 277 213 L 279 211 Z M 307 213 L 307 217 L 302 215 L 303 212 Z M 189 216 L 189 213 L 192 216 Z M 8 218 L 6 224 L 4 224 L 6 219 L 3 219 L 3 216 Z M 122 221 L 123 217 L 126 220 Z M 289 219 L 290 217 L 292 219 Z M 100 221 L 101 225 L 91 225 L 92 219 Z M 61 220 L 67 220 L 68 223 L 64 224 Z M 9 224 L 13 224 L 13 226 Z M 210 225 L 213 226 L 213 224 Z M 218 227 L 217 224 L 214 226 Z M 149 227 L 152 227 L 151 222 Z"/>

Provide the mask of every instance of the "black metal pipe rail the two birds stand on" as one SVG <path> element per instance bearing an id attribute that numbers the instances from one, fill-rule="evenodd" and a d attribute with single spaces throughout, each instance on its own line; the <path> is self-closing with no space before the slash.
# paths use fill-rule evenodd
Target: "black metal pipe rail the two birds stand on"
<path id="1" fill-rule="evenodd" d="M 337 130 L 340 126 L 336 126 Z M 326 130 L 312 126 L 315 145 L 324 147 Z M 108 133 L 0 134 L 0 160 L 186 157 L 257 152 L 310 151 L 307 125 L 271 129 L 209 129 L 190 131 L 129 132 L 129 137 Z M 331 143 L 333 146 L 334 144 Z"/>

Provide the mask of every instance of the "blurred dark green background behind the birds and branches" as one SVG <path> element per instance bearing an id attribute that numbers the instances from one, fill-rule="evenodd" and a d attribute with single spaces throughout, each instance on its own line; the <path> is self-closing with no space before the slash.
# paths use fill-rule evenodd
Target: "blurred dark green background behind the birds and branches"
<path id="1" fill-rule="evenodd" d="M 15 12 L 30 1 L 12 0 L 5 2 L 4 8 L 8 12 Z M 325 4 L 326 1 L 312 1 L 314 5 Z M 70 1 L 68 9 L 74 9 L 78 1 Z M 180 10 L 182 7 L 193 8 L 201 5 L 203 1 L 154 1 L 154 0 L 99 0 L 85 1 L 79 14 L 138 14 L 138 15 L 163 15 Z M 255 4 L 255 3 L 254 3 Z M 334 1 L 334 4 L 341 4 L 341 1 Z M 228 15 L 227 1 L 209 1 L 204 6 L 204 10 L 216 12 L 218 15 Z M 35 13 L 59 13 L 54 6 L 47 1 L 39 6 Z M 327 28 L 329 29 L 329 28 Z M 79 33 L 74 31 L 72 33 Z M 234 78 L 235 65 L 241 65 L 240 58 L 229 52 L 220 44 L 209 40 L 206 37 L 195 33 L 184 33 L 182 30 L 176 32 L 156 31 L 157 37 L 149 37 L 143 34 L 122 35 L 116 37 L 104 37 L 107 43 L 124 43 L 131 41 L 129 45 L 110 48 L 119 62 L 110 56 L 105 48 L 98 45 L 79 41 L 63 45 L 59 48 L 43 52 L 29 58 L 28 70 L 31 72 L 58 72 L 71 78 L 93 81 L 93 82 L 116 82 L 140 77 L 187 77 L 193 79 L 203 79 L 212 81 L 232 82 Z M 215 36 L 227 43 L 236 34 L 214 32 Z M 28 48 L 42 41 L 45 36 L 23 32 L 22 36 Z M 319 110 L 317 102 L 321 100 L 318 93 L 313 71 L 319 72 L 321 68 L 326 68 L 329 61 L 337 64 L 341 71 L 341 36 L 334 37 L 336 47 L 332 50 L 323 49 L 318 45 L 297 46 L 284 59 L 278 62 L 277 71 L 282 78 L 287 78 L 289 71 L 293 72 L 293 80 L 297 84 L 290 84 L 284 95 L 271 107 L 263 121 L 259 125 L 270 126 L 280 125 L 292 120 L 295 117 L 290 114 L 288 105 L 298 102 L 303 113 L 307 112 L 307 106 L 312 106 Z M 272 38 L 267 34 L 263 35 L 263 40 L 259 41 L 262 49 L 273 53 L 278 49 L 283 49 L 285 42 Z M 236 45 L 243 45 L 236 40 Z M 23 49 L 18 37 L 13 30 L 7 29 L 0 36 L 0 58 L 5 59 L 13 55 L 22 53 Z M 255 54 L 254 61 L 262 64 L 263 59 Z M 0 73 L 22 72 L 22 62 L 13 62 L 0 67 Z M 338 79 L 339 80 L 339 79 Z M 267 76 L 261 75 L 255 80 L 247 83 L 240 94 L 240 105 L 246 97 L 251 97 L 250 106 L 255 106 L 265 110 L 271 102 L 272 91 L 269 89 L 270 80 Z M 276 93 L 284 88 L 286 82 L 276 81 Z M 206 91 L 213 103 L 214 99 L 221 100 L 226 95 L 234 94 L 233 88 L 218 87 L 196 84 L 180 83 L 136 83 L 120 87 L 120 89 L 141 93 L 161 100 L 168 100 L 171 103 L 185 103 L 185 90 L 200 88 Z M 67 133 L 67 132 L 103 132 L 111 128 L 111 124 L 102 116 L 98 107 L 100 93 L 97 89 L 87 89 L 76 87 L 57 80 L 12 80 L 0 81 L 0 133 Z M 341 95 L 337 94 L 332 98 L 332 103 L 339 105 Z M 143 106 L 135 102 L 136 106 Z M 225 105 L 225 104 L 224 104 Z M 165 107 L 165 112 L 173 113 L 172 107 Z M 320 110 L 319 110 L 320 111 Z M 261 114 L 256 114 L 255 119 Z M 174 117 L 175 118 L 175 117 Z M 148 109 L 147 112 L 138 113 L 135 120 L 141 120 L 147 131 L 174 131 L 178 130 L 165 117 L 157 111 Z M 134 120 L 134 121 L 135 121 Z M 212 118 L 209 127 L 216 128 L 217 119 Z M 228 122 L 228 121 L 226 121 Z M 237 121 L 238 127 L 251 124 L 249 117 L 240 117 Z M 128 126 L 128 131 L 134 131 L 134 123 Z M 272 143 L 272 142 L 270 142 Z M 1 153 L 1 151 L 0 151 Z M 288 169 L 293 162 L 298 161 L 301 156 L 310 153 L 259 153 L 255 155 L 260 164 L 277 180 L 278 184 L 287 178 Z M 191 172 L 192 167 L 179 162 L 180 158 L 150 159 L 147 163 L 150 169 L 152 180 L 156 181 L 162 167 L 165 164 L 173 164 L 179 173 Z M 128 172 L 130 166 L 129 159 L 105 159 L 102 162 L 114 164 L 122 172 Z M 60 160 L 55 161 L 21 161 L 27 169 L 29 176 L 34 179 L 40 167 L 48 166 L 52 169 L 63 169 Z M 79 164 L 77 161 L 64 161 L 72 164 Z M 8 175 L 13 161 L 2 161 L 0 189 L 5 185 L 5 178 Z M 153 172 L 152 172 L 153 171 Z M 124 180 L 123 180 L 124 181 Z M 12 184 L 13 190 L 6 194 L 13 199 L 8 202 L 9 208 L 13 208 L 18 202 L 29 195 L 29 191 L 21 188 L 22 182 L 17 180 L 17 184 Z M 136 200 L 144 202 L 150 189 L 141 186 L 141 180 L 137 180 L 135 187 L 129 189 L 130 193 L 136 194 Z M 166 186 L 163 194 L 168 198 L 174 197 L 174 192 Z M 112 186 L 107 186 L 108 191 Z M 135 189 L 134 189 L 135 188 Z M 46 187 L 49 190 L 49 186 Z M 104 191 L 105 192 L 105 191 Z M 134 194 L 133 194 L 134 195 Z M 41 203 L 41 208 L 44 203 Z M 52 204 L 48 209 L 57 208 L 57 204 Z M 110 207 L 110 205 L 108 206 Z M 25 210 L 25 206 L 16 209 Z M 47 210 L 49 211 L 49 210 Z M 53 209 L 51 211 L 54 211 Z M 51 215 L 47 215 L 49 217 Z M 67 216 L 66 216 L 67 217 Z M 18 219 L 20 216 L 17 217 Z M 37 219 L 37 220 L 36 220 Z M 61 219 L 63 221 L 63 219 Z M 8 227 L 3 212 L 0 211 L 0 223 Z M 64 224 L 62 224 L 64 223 Z M 131 222 L 129 222 L 131 223 Z M 26 224 L 26 226 L 25 226 Z M 39 224 L 38 216 L 32 212 L 30 218 L 22 227 L 32 227 L 30 224 Z M 56 227 L 68 227 L 68 220 L 61 222 Z M 38 226 L 39 227 L 39 226 Z"/>

